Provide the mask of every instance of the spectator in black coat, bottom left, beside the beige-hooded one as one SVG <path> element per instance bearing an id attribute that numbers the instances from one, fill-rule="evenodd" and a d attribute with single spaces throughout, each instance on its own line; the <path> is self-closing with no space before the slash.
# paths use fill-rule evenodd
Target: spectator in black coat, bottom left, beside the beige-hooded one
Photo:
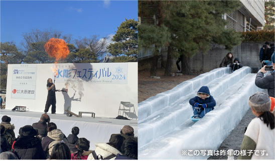
<path id="1" fill-rule="evenodd" d="M 19 159 L 46 159 L 41 140 L 31 125 L 19 129 L 19 139 L 14 143 L 14 153 Z"/>

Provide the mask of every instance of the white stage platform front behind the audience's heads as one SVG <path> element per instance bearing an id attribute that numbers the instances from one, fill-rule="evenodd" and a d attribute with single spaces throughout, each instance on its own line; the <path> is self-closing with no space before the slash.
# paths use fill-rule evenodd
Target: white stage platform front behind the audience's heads
<path id="1" fill-rule="evenodd" d="M 18 135 L 19 128 L 25 125 L 32 125 L 38 122 L 42 115 L 41 112 L 17 112 L 11 110 L 0 109 L 0 117 L 7 115 L 12 118 L 11 123 L 15 125 L 15 134 Z M 134 134 L 137 136 L 137 120 L 121 120 L 115 118 L 106 118 L 96 116 L 91 117 L 91 114 L 85 114 L 82 117 L 66 116 L 66 114 L 51 114 L 48 113 L 51 122 L 57 125 L 57 128 L 68 136 L 71 134 L 72 127 L 79 127 L 78 137 L 84 137 L 90 141 L 90 149 L 95 148 L 95 143 L 108 142 L 111 134 L 119 133 L 124 125 L 130 125 L 134 129 Z"/>

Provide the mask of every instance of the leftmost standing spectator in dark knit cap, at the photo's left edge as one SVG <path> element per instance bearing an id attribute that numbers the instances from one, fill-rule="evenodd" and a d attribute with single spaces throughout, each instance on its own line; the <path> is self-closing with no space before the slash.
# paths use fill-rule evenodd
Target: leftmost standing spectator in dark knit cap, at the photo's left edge
<path id="1" fill-rule="evenodd" d="M 12 145 L 16 138 L 15 132 L 14 132 L 15 126 L 14 126 L 14 124 L 11 124 L 11 117 L 4 115 L 2 117 L 2 122 L 0 125 L 5 126 L 5 134 L 4 135 L 6 136 L 7 142 L 9 144 L 9 150 L 10 150 L 10 149 L 12 149 Z"/>

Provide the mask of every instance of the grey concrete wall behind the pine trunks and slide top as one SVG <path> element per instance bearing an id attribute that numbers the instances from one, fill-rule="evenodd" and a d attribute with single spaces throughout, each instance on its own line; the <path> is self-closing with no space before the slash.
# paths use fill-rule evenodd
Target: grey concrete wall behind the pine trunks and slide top
<path id="1" fill-rule="evenodd" d="M 271 42 L 269 42 L 271 43 Z M 222 59 L 228 52 L 231 52 L 234 58 L 239 58 L 243 66 L 248 66 L 251 68 L 251 73 L 256 73 L 261 68 L 261 63 L 259 61 L 259 50 L 264 45 L 264 42 L 244 42 L 239 46 L 234 47 L 231 51 L 225 50 L 224 46 L 212 45 L 212 49 L 205 55 L 201 52 L 196 54 L 190 59 L 190 69 L 196 71 L 209 72 L 215 68 L 219 68 Z M 167 50 L 162 50 L 162 55 L 160 56 L 158 67 L 165 67 L 167 60 Z M 178 70 L 176 66 L 177 59 L 173 59 L 172 72 Z M 160 65 L 161 62 L 161 65 Z M 151 68 L 151 61 L 139 61 L 139 71 Z M 180 63 L 181 66 L 181 63 Z"/>

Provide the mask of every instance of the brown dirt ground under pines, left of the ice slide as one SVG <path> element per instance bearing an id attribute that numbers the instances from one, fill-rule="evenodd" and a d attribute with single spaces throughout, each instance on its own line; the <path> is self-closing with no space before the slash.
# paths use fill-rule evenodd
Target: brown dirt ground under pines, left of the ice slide
<path id="1" fill-rule="evenodd" d="M 168 91 L 183 81 L 192 79 L 203 72 L 191 71 L 191 75 L 182 76 L 164 76 L 165 69 L 158 69 L 160 79 L 150 77 L 150 69 L 139 72 L 139 102 L 146 100 L 149 97 L 155 96 L 158 93 Z M 176 75 L 176 74 L 175 74 Z"/>

